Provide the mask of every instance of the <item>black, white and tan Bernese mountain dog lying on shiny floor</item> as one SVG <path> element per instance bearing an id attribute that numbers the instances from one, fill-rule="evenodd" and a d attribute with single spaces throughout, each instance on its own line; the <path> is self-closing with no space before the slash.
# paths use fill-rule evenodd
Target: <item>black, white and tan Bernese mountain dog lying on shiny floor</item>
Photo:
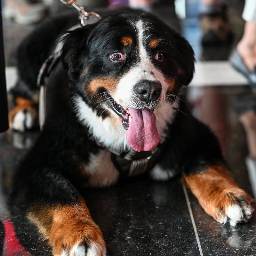
<path id="1" fill-rule="evenodd" d="M 64 34 L 61 60 L 46 82 L 44 128 L 14 177 L 12 211 L 36 225 L 55 256 L 106 255 L 79 191 L 142 173 L 155 180 L 180 175 L 222 224 L 249 220 L 251 196 L 232 179 L 216 137 L 182 100 L 194 72 L 188 42 L 142 11 L 113 12 L 67 31 L 77 23 L 73 13 L 51 18 L 20 45 L 11 120 L 22 131 L 35 124 L 36 76 Z"/>

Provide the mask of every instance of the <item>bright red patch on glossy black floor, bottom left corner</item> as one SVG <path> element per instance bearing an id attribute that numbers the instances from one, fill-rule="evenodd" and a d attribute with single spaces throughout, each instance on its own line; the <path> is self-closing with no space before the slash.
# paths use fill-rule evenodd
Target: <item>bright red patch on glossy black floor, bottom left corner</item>
<path id="1" fill-rule="evenodd" d="M 32 256 L 20 244 L 19 239 L 16 237 L 13 224 L 10 220 L 2 220 L 4 224 L 4 250 L 3 256 Z"/>

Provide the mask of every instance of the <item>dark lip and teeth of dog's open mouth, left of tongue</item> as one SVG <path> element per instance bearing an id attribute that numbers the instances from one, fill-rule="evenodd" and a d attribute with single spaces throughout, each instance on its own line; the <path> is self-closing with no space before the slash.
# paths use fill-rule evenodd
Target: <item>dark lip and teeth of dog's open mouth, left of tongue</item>
<path id="1" fill-rule="evenodd" d="M 108 105 L 110 106 L 110 108 L 118 115 L 122 118 L 122 124 L 124 129 L 127 131 L 129 124 L 130 124 L 130 120 L 131 120 L 131 115 L 129 113 L 128 108 L 124 109 L 120 104 L 118 104 L 113 97 L 110 95 L 110 93 L 108 91 L 104 92 L 104 96 L 108 102 Z"/>

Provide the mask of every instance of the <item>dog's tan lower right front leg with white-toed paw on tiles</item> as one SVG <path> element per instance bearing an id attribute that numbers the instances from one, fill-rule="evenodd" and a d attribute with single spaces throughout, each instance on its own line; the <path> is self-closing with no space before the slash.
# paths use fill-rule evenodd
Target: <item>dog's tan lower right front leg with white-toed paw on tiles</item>
<path id="1" fill-rule="evenodd" d="M 253 200 L 238 187 L 224 165 L 185 174 L 184 180 L 204 211 L 218 222 L 236 226 L 250 219 Z"/>

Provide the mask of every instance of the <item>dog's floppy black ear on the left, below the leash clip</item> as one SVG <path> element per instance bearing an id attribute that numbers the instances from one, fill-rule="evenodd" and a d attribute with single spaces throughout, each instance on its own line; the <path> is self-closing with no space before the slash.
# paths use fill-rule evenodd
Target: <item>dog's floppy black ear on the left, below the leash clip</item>
<path id="1" fill-rule="evenodd" d="M 79 60 L 86 53 L 87 39 L 93 28 L 93 24 L 76 28 L 75 30 L 68 31 L 63 37 L 61 61 L 64 68 L 68 69 L 69 75 L 79 71 L 79 65 L 82 63 Z"/>

